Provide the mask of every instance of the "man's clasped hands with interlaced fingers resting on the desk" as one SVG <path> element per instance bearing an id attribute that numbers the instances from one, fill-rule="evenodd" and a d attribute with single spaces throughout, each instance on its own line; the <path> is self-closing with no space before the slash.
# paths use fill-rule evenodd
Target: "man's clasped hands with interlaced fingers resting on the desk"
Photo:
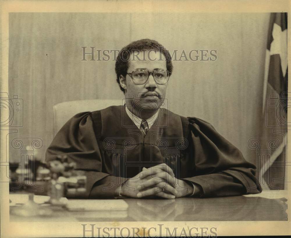
<path id="1" fill-rule="evenodd" d="M 132 198 L 180 198 L 193 193 L 193 185 L 175 178 L 173 170 L 159 164 L 143 170 L 121 186 L 120 194 Z"/>

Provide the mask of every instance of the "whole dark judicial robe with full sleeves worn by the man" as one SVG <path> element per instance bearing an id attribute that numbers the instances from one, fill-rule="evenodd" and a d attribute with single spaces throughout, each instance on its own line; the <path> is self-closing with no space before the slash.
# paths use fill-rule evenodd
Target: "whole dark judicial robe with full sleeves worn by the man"
<path id="1" fill-rule="evenodd" d="M 86 198 L 114 198 L 127 178 L 161 163 L 168 164 L 176 178 L 200 185 L 201 197 L 260 192 L 256 167 L 212 125 L 162 108 L 146 135 L 125 106 L 78 113 L 56 134 L 46 161 L 62 154 L 86 171 Z"/>

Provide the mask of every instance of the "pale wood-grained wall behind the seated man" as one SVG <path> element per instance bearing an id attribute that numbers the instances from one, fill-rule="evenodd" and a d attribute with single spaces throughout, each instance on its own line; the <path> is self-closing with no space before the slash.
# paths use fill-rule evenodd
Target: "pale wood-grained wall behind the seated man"
<path id="1" fill-rule="evenodd" d="M 152 38 L 171 53 L 217 50 L 217 61 L 174 61 L 169 109 L 209 121 L 255 163 L 247 141 L 260 135 L 269 13 L 10 13 L 9 96 L 22 98 L 15 137 L 53 139 L 54 104 L 122 99 L 115 61 L 81 61 L 81 46 L 121 49 Z M 90 51 L 90 48 L 86 49 Z M 90 59 L 90 56 L 87 56 Z M 10 161 L 19 161 L 10 146 Z"/>

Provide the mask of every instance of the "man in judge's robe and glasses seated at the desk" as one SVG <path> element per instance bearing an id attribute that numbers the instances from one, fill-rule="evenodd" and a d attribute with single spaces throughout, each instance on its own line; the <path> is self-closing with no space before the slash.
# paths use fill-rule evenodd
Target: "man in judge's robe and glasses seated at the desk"
<path id="1" fill-rule="evenodd" d="M 124 47 L 115 71 L 123 106 L 71 118 L 47 149 L 86 171 L 88 198 L 179 198 L 258 193 L 255 166 L 204 120 L 164 105 L 173 66 L 155 40 Z"/>

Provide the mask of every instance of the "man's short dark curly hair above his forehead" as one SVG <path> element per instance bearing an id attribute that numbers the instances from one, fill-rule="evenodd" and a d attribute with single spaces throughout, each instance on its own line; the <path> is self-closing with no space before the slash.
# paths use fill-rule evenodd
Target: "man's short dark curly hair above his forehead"
<path id="1" fill-rule="evenodd" d="M 159 42 L 155 40 L 150 40 L 150 39 L 141 39 L 141 40 L 136 40 L 131 42 L 129 45 L 123 47 L 117 58 L 116 58 L 116 63 L 115 63 L 115 72 L 116 72 L 116 81 L 123 93 L 125 93 L 125 90 L 121 87 L 119 77 L 120 75 L 123 75 L 126 77 L 127 74 L 127 69 L 128 69 L 128 60 L 130 58 L 130 54 L 134 51 L 142 51 L 142 50 L 157 50 L 160 51 L 166 58 L 166 65 L 167 65 L 167 70 L 170 72 L 170 76 L 173 71 L 173 64 L 172 64 L 172 59 L 171 55 L 168 50 L 164 48 Z"/>

